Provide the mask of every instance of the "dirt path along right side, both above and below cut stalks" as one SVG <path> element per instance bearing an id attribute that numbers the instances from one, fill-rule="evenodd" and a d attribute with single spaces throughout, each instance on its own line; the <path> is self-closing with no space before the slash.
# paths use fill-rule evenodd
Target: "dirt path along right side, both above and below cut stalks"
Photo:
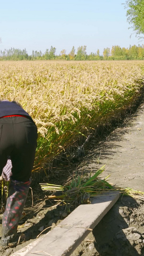
<path id="1" fill-rule="evenodd" d="M 78 171 L 105 166 L 104 177 L 121 187 L 144 192 L 144 104 L 95 145 Z M 72 256 L 144 256 L 144 202 L 124 196 L 96 226 Z"/>

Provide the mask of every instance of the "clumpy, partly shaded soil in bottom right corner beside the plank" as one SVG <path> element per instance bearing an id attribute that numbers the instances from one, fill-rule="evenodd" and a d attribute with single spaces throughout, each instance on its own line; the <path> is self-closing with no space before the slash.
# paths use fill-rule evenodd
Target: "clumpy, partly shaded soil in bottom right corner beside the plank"
<path id="1" fill-rule="evenodd" d="M 120 197 L 72 256 L 143 256 L 143 207 L 132 197 Z"/>

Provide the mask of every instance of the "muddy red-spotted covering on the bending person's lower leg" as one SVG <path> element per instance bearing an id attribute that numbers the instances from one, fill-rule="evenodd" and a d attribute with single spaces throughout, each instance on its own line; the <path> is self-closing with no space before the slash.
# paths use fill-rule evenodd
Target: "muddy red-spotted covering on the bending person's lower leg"
<path id="1" fill-rule="evenodd" d="M 2 219 L 0 247 L 8 246 L 17 240 L 18 222 L 22 216 L 31 181 L 18 182 L 11 179 L 5 212 Z"/>

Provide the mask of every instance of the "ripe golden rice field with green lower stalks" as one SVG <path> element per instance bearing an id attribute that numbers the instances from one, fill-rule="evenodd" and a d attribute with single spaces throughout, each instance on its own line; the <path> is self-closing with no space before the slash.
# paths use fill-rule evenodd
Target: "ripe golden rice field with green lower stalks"
<path id="1" fill-rule="evenodd" d="M 16 100 L 36 122 L 33 171 L 130 108 L 144 61 L 1 61 L 0 99 Z"/>

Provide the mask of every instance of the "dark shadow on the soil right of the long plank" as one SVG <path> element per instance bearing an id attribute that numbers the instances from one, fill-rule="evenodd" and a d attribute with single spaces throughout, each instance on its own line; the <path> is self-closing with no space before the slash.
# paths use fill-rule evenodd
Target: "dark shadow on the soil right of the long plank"
<path id="1" fill-rule="evenodd" d="M 133 198 L 125 198 L 113 206 L 107 215 L 99 222 L 93 230 L 95 238 L 95 248 L 100 256 L 139 256 L 140 254 L 134 248 L 132 234 L 134 229 L 129 227 L 130 216 L 121 216 L 121 207 L 138 207 Z M 131 207 L 129 209 L 131 209 Z M 124 213 L 126 214 L 126 212 Z M 128 213 L 129 214 L 129 213 Z M 127 231 L 127 232 L 125 232 Z M 129 237 L 131 236 L 131 239 Z M 129 238 L 128 238 L 128 237 Z"/>

